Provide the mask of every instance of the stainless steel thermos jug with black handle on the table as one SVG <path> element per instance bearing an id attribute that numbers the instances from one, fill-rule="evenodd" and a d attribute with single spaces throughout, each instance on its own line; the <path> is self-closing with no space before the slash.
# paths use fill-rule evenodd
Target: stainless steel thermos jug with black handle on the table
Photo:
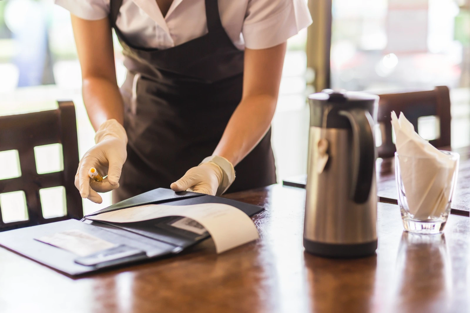
<path id="1" fill-rule="evenodd" d="M 377 249 L 378 99 L 332 90 L 309 96 L 304 247 L 310 253 L 352 258 Z"/>

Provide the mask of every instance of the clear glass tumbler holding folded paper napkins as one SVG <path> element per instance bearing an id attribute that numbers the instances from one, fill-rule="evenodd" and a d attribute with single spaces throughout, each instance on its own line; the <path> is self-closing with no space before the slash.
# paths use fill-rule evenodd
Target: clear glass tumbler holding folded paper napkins
<path id="1" fill-rule="evenodd" d="M 395 181 L 405 230 L 437 234 L 444 230 L 457 183 L 459 154 L 408 157 L 395 153 Z"/>

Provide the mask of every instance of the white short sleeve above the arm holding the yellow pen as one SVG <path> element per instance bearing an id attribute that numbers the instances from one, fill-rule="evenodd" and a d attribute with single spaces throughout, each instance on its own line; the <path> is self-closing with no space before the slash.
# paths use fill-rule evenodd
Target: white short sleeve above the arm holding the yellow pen
<path id="1" fill-rule="evenodd" d="M 110 0 L 54 0 L 54 2 L 84 20 L 101 20 L 110 13 Z"/>

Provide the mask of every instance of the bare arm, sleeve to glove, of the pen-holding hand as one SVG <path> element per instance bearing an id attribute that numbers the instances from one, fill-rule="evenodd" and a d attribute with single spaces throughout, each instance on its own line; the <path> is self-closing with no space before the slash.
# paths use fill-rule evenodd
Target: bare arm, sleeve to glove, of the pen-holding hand
<path id="1" fill-rule="evenodd" d="M 109 19 L 88 21 L 74 15 L 71 15 L 71 19 L 82 69 L 83 102 L 88 117 L 95 130 L 113 118 L 122 124 L 124 106 L 116 80 Z"/>

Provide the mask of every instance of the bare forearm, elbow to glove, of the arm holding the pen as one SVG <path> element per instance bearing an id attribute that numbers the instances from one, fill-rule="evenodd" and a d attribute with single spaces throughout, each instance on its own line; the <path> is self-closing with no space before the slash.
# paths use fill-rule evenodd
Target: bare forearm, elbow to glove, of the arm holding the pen
<path id="1" fill-rule="evenodd" d="M 83 102 L 94 130 L 108 119 L 124 122 L 124 105 L 116 82 L 106 78 L 83 78 Z"/>

